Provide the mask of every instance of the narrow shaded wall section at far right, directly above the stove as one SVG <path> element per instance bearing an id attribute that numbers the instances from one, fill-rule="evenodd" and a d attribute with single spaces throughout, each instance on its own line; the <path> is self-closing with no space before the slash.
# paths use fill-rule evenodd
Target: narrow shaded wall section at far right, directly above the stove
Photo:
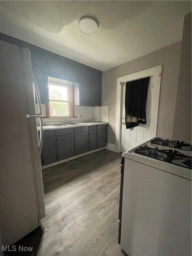
<path id="1" fill-rule="evenodd" d="M 173 138 L 191 141 L 191 13 L 184 19 Z"/>

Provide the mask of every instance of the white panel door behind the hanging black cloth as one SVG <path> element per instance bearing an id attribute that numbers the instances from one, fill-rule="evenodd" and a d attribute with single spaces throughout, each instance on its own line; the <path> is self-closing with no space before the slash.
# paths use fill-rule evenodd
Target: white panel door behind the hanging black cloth
<path id="1" fill-rule="evenodd" d="M 147 92 L 147 108 L 146 108 L 146 124 L 139 124 L 136 127 L 126 129 L 125 126 L 125 88 L 123 85 L 123 95 L 122 95 L 122 124 L 121 124 L 121 152 L 128 151 L 145 141 L 148 141 L 149 130 L 150 130 L 150 120 L 151 120 L 151 98 L 153 90 L 153 76 L 150 77 L 148 92 Z"/>

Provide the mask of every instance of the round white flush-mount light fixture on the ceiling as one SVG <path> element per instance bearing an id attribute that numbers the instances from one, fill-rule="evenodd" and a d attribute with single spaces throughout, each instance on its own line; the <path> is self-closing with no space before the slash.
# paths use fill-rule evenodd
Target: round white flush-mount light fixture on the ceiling
<path id="1" fill-rule="evenodd" d="M 90 16 L 82 17 L 79 20 L 79 29 L 85 34 L 93 34 L 97 31 L 99 24 L 96 19 Z"/>

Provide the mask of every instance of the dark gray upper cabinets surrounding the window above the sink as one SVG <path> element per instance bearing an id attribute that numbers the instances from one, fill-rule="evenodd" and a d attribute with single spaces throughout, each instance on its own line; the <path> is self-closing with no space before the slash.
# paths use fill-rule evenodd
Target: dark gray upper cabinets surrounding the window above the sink
<path id="1" fill-rule="evenodd" d="M 41 103 L 49 102 L 47 76 L 51 76 L 79 83 L 81 106 L 101 106 L 101 71 L 16 38 L 3 35 L 1 39 L 30 49 L 32 68 L 37 80 Z"/>

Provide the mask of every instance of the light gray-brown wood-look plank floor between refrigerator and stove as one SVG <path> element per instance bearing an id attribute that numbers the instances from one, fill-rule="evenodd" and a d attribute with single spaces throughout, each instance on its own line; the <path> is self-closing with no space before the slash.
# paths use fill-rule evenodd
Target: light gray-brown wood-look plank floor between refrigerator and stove
<path id="1" fill-rule="evenodd" d="M 104 149 L 42 170 L 46 217 L 37 256 L 123 255 L 120 160 L 121 153 Z"/>

